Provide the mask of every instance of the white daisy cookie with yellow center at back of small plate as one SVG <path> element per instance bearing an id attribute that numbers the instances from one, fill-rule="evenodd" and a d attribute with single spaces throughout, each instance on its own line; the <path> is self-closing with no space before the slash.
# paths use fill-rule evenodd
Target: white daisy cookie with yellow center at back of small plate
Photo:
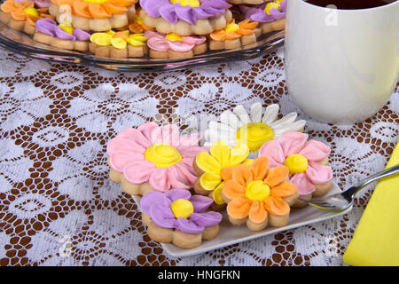
<path id="1" fill-rule="evenodd" d="M 236 106 L 232 112 L 224 111 L 218 122 L 209 122 L 204 132 L 205 145 L 209 146 L 217 140 L 226 141 L 229 146 L 238 142 L 245 143 L 254 157 L 259 148 L 267 141 L 278 138 L 288 131 L 301 131 L 305 121 L 295 122 L 296 113 L 286 114 L 278 119 L 277 104 L 266 107 L 262 113 L 262 104 L 254 103 L 250 114 L 244 106 Z"/>

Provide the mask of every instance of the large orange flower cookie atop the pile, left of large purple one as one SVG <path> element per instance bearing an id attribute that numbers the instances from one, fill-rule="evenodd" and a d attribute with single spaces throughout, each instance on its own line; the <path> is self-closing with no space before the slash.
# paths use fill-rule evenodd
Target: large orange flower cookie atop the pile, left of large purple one
<path id="1" fill-rule="evenodd" d="M 129 25 L 136 15 L 137 0 L 51 0 L 49 12 L 59 23 L 74 28 L 103 32 Z"/>

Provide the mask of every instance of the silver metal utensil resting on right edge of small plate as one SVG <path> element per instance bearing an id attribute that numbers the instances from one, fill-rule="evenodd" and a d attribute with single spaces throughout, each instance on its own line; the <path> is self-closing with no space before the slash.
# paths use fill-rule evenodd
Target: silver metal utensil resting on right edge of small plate
<path id="1" fill-rule="evenodd" d="M 388 168 L 386 170 L 382 170 L 370 177 L 366 177 L 356 185 L 349 187 L 346 191 L 326 196 L 323 200 L 317 199 L 317 200 L 306 201 L 302 198 L 298 199 L 318 209 L 332 211 L 332 212 L 341 212 L 344 211 L 345 209 L 348 209 L 348 207 L 352 205 L 356 193 L 358 193 L 362 188 L 364 188 L 364 186 L 370 185 L 371 183 L 373 183 L 376 180 L 379 180 L 382 177 L 391 176 L 398 172 L 399 172 L 399 164 L 391 168 Z"/>

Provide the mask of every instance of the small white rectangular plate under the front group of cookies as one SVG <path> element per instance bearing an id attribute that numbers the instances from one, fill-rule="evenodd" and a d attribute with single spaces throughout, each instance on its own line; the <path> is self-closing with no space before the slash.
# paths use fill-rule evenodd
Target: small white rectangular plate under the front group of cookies
<path id="1" fill-rule="evenodd" d="M 340 193 L 340 187 L 332 182 L 332 186 L 328 194 Z M 133 199 L 136 201 L 138 209 L 140 208 L 141 197 L 137 195 L 132 195 Z M 170 243 L 161 243 L 163 249 L 172 256 L 192 256 L 200 253 L 204 253 L 209 250 L 216 248 L 223 248 L 230 246 L 232 244 L 250 241 L 256 238 L 267 236 L 272 233 L 283 232 L 289 229 L 297 228 L 302 225 L 309 225 L 316 222 L 324 221 L 333 217 L 339 217 L 341 215 L 347 214 L 352 209 L 352 206 L 342 212 L 329 212 L 321 209 L 314 208 L 312 206 L 306 206 L 301 209 L 291 209 L 290 221 L 288 225 L 280 228 L 272 227 L 268 225 L 264 230 L 260 232 L 250 231 L 246 225 L 231 225 L 227 218 L 226 212 L 223 212 L 223 220 L 220 224 L 220 230 L 217 237 L 210 241 L 202 241 L 200 247 L 185 249 L 178 248 Z"/>

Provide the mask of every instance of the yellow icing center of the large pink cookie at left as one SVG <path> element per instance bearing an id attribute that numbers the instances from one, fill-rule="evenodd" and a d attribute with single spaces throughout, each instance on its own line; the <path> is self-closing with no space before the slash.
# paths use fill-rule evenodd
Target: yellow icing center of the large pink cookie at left
<path id="1" fill-rule="evenodd" d="M 153 162 L 157 168 L 168 168 L 182 161 L 182 156 L 174 146 L 159 143 L 145 150 L 145 160 Z"/>

